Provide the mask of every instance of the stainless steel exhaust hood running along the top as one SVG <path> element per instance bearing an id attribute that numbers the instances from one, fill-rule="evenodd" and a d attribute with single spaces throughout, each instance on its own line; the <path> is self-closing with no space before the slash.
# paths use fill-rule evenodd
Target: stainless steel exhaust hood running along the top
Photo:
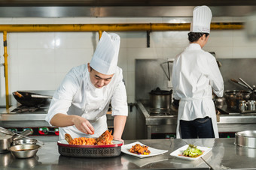
<path id="1" fill-rule="evenodd" d="M 213 16 L 247 16 L 256 10 L 253 0 L 2 0 L 0 17 L 182 17 L 203 4 Z"/>

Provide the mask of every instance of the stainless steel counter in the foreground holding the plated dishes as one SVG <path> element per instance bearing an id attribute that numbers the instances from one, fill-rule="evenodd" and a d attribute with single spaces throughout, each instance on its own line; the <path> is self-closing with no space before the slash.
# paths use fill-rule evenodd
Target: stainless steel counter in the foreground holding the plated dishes
<path id="1" fill-rule="evenodd" d="M 136 142 L 127 140 L 125 144 Z M 121 153 L 119 157 L 77 158 L 59 155 L 56 142 L 47 142 L 35 157 L 16 159 L 10 153 L 1 154 L 0 169 L 255 169 L 256 149 L 248 150 L 233 144 L 234 139 L 146 139 L 139 140 L 152 148 L 168 150 L 167 153 L 137 158 Z M 212 151 L 196 161 L 170 156 L 172 151 L 187 143 L 210 147 Z"/>

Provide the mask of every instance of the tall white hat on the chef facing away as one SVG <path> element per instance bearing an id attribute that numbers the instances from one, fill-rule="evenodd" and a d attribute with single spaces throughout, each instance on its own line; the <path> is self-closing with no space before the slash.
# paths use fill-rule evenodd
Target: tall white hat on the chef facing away
<path id="1" fill-rule="evenodd" d="M 193 22 L 190 25 L 191 32 L 210 33 L 212 11 L 207 6 L 198 6 L 193 10 Z"/>

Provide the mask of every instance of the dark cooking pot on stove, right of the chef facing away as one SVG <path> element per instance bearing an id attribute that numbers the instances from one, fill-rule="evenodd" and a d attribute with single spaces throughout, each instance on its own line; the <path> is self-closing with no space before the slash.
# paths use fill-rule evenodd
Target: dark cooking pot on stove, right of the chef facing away
<path id="1" fill-rule="evenodd" d="M 231 109 L 237 109 L 239 100 L 250 100 L 251 91 L 225 91 L 224 97 L 226 99 L 227 107 Z"/>

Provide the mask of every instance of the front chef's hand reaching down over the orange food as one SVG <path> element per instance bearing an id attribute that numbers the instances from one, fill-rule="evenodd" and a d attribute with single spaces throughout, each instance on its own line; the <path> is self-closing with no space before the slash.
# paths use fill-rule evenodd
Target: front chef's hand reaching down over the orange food
<path id="1" fill-rule="evenodd" d="M 74 120 L 75 127 L 85 134 L 94 134 L 93 125 L 86 118 L 82 118 L 80 116 L 76 117 Z"/>

